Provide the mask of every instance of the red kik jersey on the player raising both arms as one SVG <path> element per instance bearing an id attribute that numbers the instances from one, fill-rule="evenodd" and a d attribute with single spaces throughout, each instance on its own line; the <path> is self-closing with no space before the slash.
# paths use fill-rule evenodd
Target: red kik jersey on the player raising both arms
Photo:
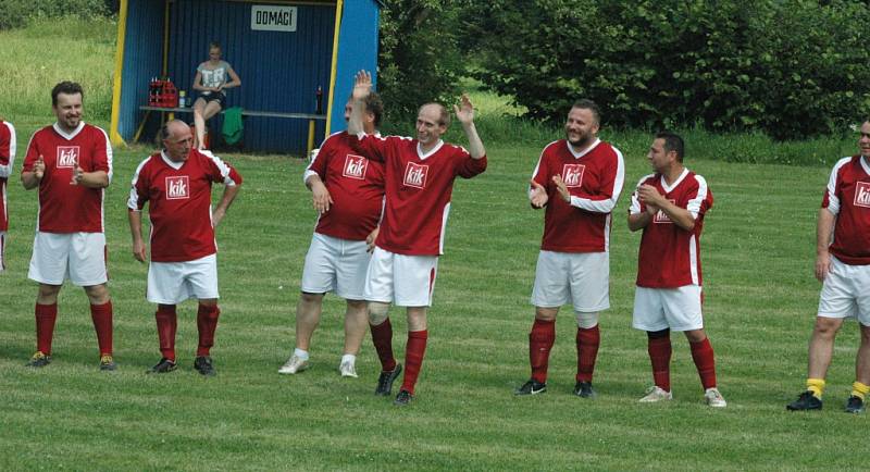
<path id="1" fill-rule="evenodd" d="M 457 176 L 486 170 L 486 156 L 474 159 L 459 146 L 438 141 L 423 153 L 417 139 L 360 133 L 353 148 L 384 162 L 386 204 L 375 245 L 407 256 L 444 253 L 444 232 Z"/>

